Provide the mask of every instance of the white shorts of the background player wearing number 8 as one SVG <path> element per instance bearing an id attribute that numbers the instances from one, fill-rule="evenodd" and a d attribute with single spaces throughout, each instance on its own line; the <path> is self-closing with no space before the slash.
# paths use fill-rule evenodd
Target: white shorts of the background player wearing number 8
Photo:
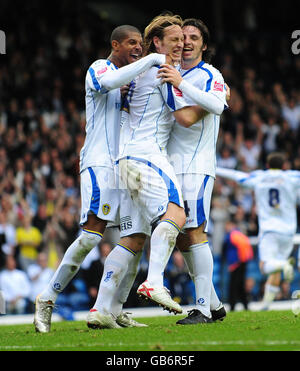
<path id="1" fill-rule="evenodd" d="M 259 260 L 287 260 L 293 250 L 293 236 L 277 232 L 265 232 L 259 237 Z"/>

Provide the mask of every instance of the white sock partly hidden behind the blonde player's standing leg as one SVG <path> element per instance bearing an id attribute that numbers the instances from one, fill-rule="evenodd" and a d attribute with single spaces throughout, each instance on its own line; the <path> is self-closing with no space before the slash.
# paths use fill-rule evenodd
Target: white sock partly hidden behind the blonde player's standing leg
<path id="1" fill-rule="evenodd" d="M 128 263 L 127 272 L 113 297 L 111 303 L 111 313 L 116 317 L 122 312 L 123 304 L 125 304 L 128 299 L 128 295 L 138 272 L 138 265 L 141 260 L 141 256 L 142 251 L 137 252 L 135 256 L 132 255 L 131 261 Z"/>

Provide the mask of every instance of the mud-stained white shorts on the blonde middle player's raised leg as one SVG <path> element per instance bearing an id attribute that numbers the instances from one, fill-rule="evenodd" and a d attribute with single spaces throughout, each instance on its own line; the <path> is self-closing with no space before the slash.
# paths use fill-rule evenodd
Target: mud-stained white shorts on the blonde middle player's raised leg
<path id="1" fill-rule="evenodd" d="M 165 156 L 156 163 L 127 156 L 118 161 L 123 184 L 148 224 L 167 211 L 169 202 L 184 207 L 180 185 Z"/>

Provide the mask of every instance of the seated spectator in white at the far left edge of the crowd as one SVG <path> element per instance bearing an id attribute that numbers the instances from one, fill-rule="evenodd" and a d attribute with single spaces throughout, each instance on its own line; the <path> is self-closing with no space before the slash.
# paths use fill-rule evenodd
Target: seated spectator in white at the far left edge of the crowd
<path id="1" fill-rule="evenodd" d="M 7 314 L 26 312 L 30 282 L 26 273 L 16 268 L 16 260 L 12 255 L 6 257 L 5 269 L 0 272 L 0 290 L 4 296 Z"/>

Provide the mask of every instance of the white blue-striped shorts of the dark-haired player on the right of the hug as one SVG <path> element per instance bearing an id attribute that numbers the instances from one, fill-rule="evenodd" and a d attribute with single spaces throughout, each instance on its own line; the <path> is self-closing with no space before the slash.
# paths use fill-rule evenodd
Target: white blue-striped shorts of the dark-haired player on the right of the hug
<path id="1" fill-rule="evenodd" d="M 205 174 L 177 174 L 182 190 L 186 223 L 184 228 L 197 228 L 205 223 L 208 230 L 214 178 Z"/>

